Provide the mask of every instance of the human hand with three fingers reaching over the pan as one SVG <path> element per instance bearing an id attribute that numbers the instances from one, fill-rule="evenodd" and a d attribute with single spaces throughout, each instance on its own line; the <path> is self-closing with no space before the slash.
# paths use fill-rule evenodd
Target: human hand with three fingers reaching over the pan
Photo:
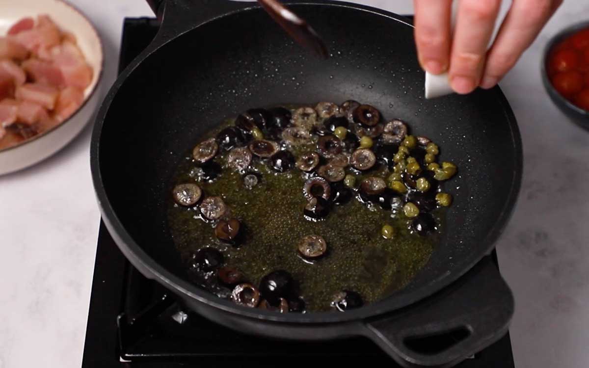
<path id="1" fill-rule="evenodd" d="M 494 87 L 527 49 L 562 0 L 513 0 L 488 49 L 501 0 L 458 0 L 452 35 L 452 0 L 414 0 L 419 63 L 431 74 L 449 72 L 459 94 Z"/>

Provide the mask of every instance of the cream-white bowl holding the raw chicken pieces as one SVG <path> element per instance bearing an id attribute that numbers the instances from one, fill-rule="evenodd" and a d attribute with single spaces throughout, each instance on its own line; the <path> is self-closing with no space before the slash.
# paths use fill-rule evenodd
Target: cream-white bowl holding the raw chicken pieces
<path id="1" fill-rule="evenodd" d="M 74 6 L 62 0 L 0 0 L 0 35 L 5 35 L 19 19 L 25 16 L 35 18 L 39 14 L 48 14 L 59 28 L 75 35 L 94 75 L 84 91 L 84 103 L 74 115 L 19 145 L 0 150 L 0 175 L 21 170 L 59 151 L 82 131 L 100 102 L 98 86 L 104 62 L 102 42 L 94 25 Z"/>

